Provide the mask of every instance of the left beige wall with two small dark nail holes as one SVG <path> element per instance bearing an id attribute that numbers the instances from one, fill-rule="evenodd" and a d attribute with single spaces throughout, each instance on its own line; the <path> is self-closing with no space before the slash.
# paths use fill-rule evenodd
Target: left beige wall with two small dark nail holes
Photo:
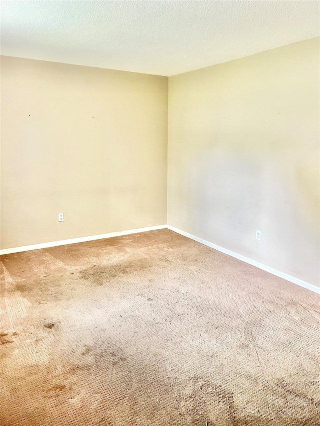
<path id="1" fill-rule="evenodd" d="M 165 224 L 166 151 L 167 77 L 2 56 L 1 249 Z"/>

